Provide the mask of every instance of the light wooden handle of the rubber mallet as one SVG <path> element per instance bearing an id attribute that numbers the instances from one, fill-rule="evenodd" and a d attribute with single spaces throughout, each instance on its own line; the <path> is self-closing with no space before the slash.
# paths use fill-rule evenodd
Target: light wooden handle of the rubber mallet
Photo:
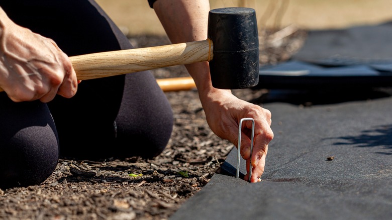
<path id="1" fill-rule="evenodd" d="M 207 39 L 156 47 L 78 55 L 70 57 L 70 60 L 77 79 L 87 80 L 210 61 L 212 58 L 213 43 Z M 169 90 L 174 90 L 174 88 Z M 4 90 L 0 88 L 0 91 Z"/>

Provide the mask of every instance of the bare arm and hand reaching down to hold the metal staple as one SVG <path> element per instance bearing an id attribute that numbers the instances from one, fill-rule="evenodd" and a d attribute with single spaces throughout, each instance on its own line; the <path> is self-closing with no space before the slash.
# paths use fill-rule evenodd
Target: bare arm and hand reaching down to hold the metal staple
<path id="1" fill-rule="evenodd" d="M 207 39 L 210 11 L 208 0 L 158 0 L 154 3 L 154 10 L 172 43 Z M 273 138 L 270 129 L 271 113 L 258 105 L 238 99 L 230 90 L 214 88 L 208 62 L 189 64 L 186 68 L 198 87 L 207 122 L 217 136 L 237 146 L 239 121 L 242 118 L 255 120 L 251 181 L 259 181 L 264 172 L 268 143 Z M 241 155 L 249 164 L 250 137 L 247 134 L 252 125 L 249 121 L 244 125 Z M 245 178 L 248 178 L 247 175 Z"/>

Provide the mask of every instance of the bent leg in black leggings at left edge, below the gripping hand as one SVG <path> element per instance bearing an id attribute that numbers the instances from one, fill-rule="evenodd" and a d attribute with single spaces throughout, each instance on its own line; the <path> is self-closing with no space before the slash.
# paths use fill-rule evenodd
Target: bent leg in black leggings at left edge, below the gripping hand
<path id="1" fill-rule="evenodd" d="M 16 103 L 0 94 L 0 188 L 39 184 L 58 160 L 58 140 L 46 104 Z"/>

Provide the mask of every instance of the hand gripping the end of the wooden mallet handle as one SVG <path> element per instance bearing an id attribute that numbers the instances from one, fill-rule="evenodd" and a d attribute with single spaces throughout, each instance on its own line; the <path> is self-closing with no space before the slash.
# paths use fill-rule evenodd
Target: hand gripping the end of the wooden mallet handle
<path id="1" fill-rule="evenodd" d="M 13 101 L 72 97 L 76 73 L 56 43 L 1 17 L 0 87 Z"/>

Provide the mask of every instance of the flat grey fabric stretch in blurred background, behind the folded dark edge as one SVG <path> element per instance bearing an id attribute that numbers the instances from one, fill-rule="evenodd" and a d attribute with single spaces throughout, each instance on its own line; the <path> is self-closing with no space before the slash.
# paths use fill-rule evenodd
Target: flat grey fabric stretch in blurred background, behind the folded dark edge
<path id="1" fill-rule="evenodd" d="M 392 22 L 310 31 L 292 59 L 323 65 L 392 63 Z"/>

